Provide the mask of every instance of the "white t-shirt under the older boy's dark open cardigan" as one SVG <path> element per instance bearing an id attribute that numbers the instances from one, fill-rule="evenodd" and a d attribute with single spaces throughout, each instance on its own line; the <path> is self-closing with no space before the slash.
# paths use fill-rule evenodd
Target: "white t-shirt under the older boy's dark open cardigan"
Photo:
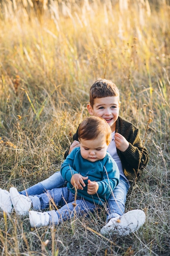
<path id="1" fill-rule="evenodd" d="M 115 131 L 112 132 L 112 139 L 110 141 L 110 144 L 108 145 L 108 153 L 110 153 L 110 155 L 113 157 L 113 159 L 117 163 L 120 175 L 123 176 L 126 180 L 128 180 L 127 177 L 124 175 L 120 158 L 117 155 L 116 144 L 115 144 Z"/>

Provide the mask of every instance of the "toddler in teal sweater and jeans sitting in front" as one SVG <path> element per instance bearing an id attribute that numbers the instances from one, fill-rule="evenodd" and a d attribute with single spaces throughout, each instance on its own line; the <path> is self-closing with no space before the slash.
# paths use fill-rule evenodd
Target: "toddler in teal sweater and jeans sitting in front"
<path id="1" fill-rule="evenodd" d="M 38 212 L 29 211 L 31 227 L 59 224 L 77 215 L 103 206 L 119 183 L 117 164 L 107 153 L 111 129 L 101 117 L 87 117 L 79 126 L 76 147 L 62 164 L 61 174 L 67 187 L 52 189 L 40 195 L 26 197 L 15 188 L 10 189 L 10 198 L 18 215 L 33 209 L 47 209 L 50 203 L 60 209 Z M 74 202 L 74 204 L 73 204 Z"/>

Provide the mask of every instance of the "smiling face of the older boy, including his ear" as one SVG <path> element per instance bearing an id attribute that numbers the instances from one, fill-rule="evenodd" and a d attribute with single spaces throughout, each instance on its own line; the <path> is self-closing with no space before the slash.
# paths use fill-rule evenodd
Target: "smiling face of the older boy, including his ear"
<path id="1" fill-rule="evenodd" d="M 119 96 L 111 96 L 94 99 L 93 108 L 88 103 L 87 109 L 90 115 L 104 118 L 113 132 L 115 131 L 115 122 L 119 116 L 120 105 Z"/>

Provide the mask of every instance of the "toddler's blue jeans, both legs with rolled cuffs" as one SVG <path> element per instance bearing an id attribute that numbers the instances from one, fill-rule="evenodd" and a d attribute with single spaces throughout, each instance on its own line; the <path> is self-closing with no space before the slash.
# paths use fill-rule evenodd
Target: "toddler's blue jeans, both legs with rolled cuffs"
<path id="1" fill-rule="evenodd" d="M 81 197 L 76 197 L 67 187 L 60 189 L 52 189 L 42 193 L 41 195 L 29 196 L 32 200 L 33 209 L 44 210 L 50 205 L 54 205 L 57 210 L 47 211 L 50 215 L 50 222 L 57 225 L 58 223 L 68 220 L 76 216 L 81 216 L 89 211 L 93 212 L 97 206 L 84 200 Z M 76 204 L 73 204 L 73 203 Z M 57 208 L 60 206 L 61 208 Z"/>

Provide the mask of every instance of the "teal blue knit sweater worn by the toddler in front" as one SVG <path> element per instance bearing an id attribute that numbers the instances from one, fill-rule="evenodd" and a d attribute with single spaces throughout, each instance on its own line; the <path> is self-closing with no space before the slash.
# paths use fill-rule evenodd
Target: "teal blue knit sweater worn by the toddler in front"
<path id="1" fill-rule="evenodd" d="M 99 184 L 99 189 L 94 195 L 88 195 L 87 193 L 87 180 L 84 180 L 86 186 L 83 190 L 77 190 L 78 196 L 99 205 L 108 200 L 113 189 L 119 183 L 119 169 L 109 153 L 102 160 L 90 162 L 81 156 L 79 147 L 73 149 L 61 166 L 61 174 L 64 180 L 68 182 L 68 189 L 74 194 L 75 189 L 71 184 L 71 177 L 75 173 L 84 177 L 88 176 L 89 180 L 96 181 Z"/>

